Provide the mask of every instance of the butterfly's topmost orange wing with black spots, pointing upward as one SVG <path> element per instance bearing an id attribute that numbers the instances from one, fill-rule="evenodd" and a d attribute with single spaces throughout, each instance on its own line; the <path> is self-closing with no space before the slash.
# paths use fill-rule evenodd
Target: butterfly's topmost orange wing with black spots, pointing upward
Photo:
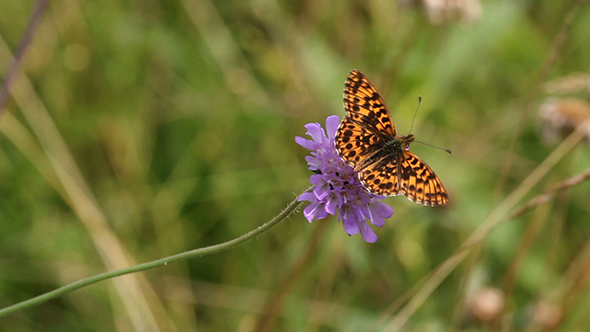
<path id="1" fill-rule="evenodd" d="M 346 116 L 379 137 L 395 136 L 395 125 L 383 98 L 358 70 L 348 74 L 344 85 Z"/>

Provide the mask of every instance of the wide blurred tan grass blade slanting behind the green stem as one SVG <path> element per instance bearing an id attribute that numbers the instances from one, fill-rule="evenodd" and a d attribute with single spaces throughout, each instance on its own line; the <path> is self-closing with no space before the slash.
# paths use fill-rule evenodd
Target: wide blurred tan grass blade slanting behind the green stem
<path id="1" fill-rule="evenodd" d="M 12 56 L 3 39 L 0 39 L 0 53 L 4 58 Z M 53 119 L 20 68 L 17 68 L 11 94 L 52 165 L 66 194 L 65 201 L 88 230 L 107 268 L 132 265 L 133 260 L 109 226 Z M 128 276 L 124 280 L 116 280 L 114 284 L 135 328 L 140 331 L 159 330 L 144 292 L 150 293 L 150 303 L 156 307 L 156 312 L 166 311 L 147 280 L 141 276 Z M 170 320 L 168 324 L 173 326 Z"/>

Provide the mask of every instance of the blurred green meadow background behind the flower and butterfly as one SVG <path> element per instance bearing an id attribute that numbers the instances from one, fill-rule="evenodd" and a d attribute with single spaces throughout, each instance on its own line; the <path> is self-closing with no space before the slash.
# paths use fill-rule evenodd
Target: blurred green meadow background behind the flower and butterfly
<path id="1" fill-rule="evenodd" d="M 5 75 L 34 1 L 0 0 Z M 437 7 L 438 6 L 438 7 Z M 0 117 L 0 306 L 238 237 L 309 185 L 309 122 L 363 71 L 450 195 L 388 198 L 379 240 L 299 213 L 234 250 L 102 282 L 3 331 L 382 330 L 553 151 L 537 109 L 588 99 L 574 1 L 53 0 Z M 584 81 L 584 79 L 586 81 Z M 575 85 L 575 84 L 574 84 Z M 588 168 L 580 145 L 516 207 Z M 587 184 L 504 218 L 406 331 L 590 330 Z M 399 318 L 399 317 L 398 317 Z"/>

